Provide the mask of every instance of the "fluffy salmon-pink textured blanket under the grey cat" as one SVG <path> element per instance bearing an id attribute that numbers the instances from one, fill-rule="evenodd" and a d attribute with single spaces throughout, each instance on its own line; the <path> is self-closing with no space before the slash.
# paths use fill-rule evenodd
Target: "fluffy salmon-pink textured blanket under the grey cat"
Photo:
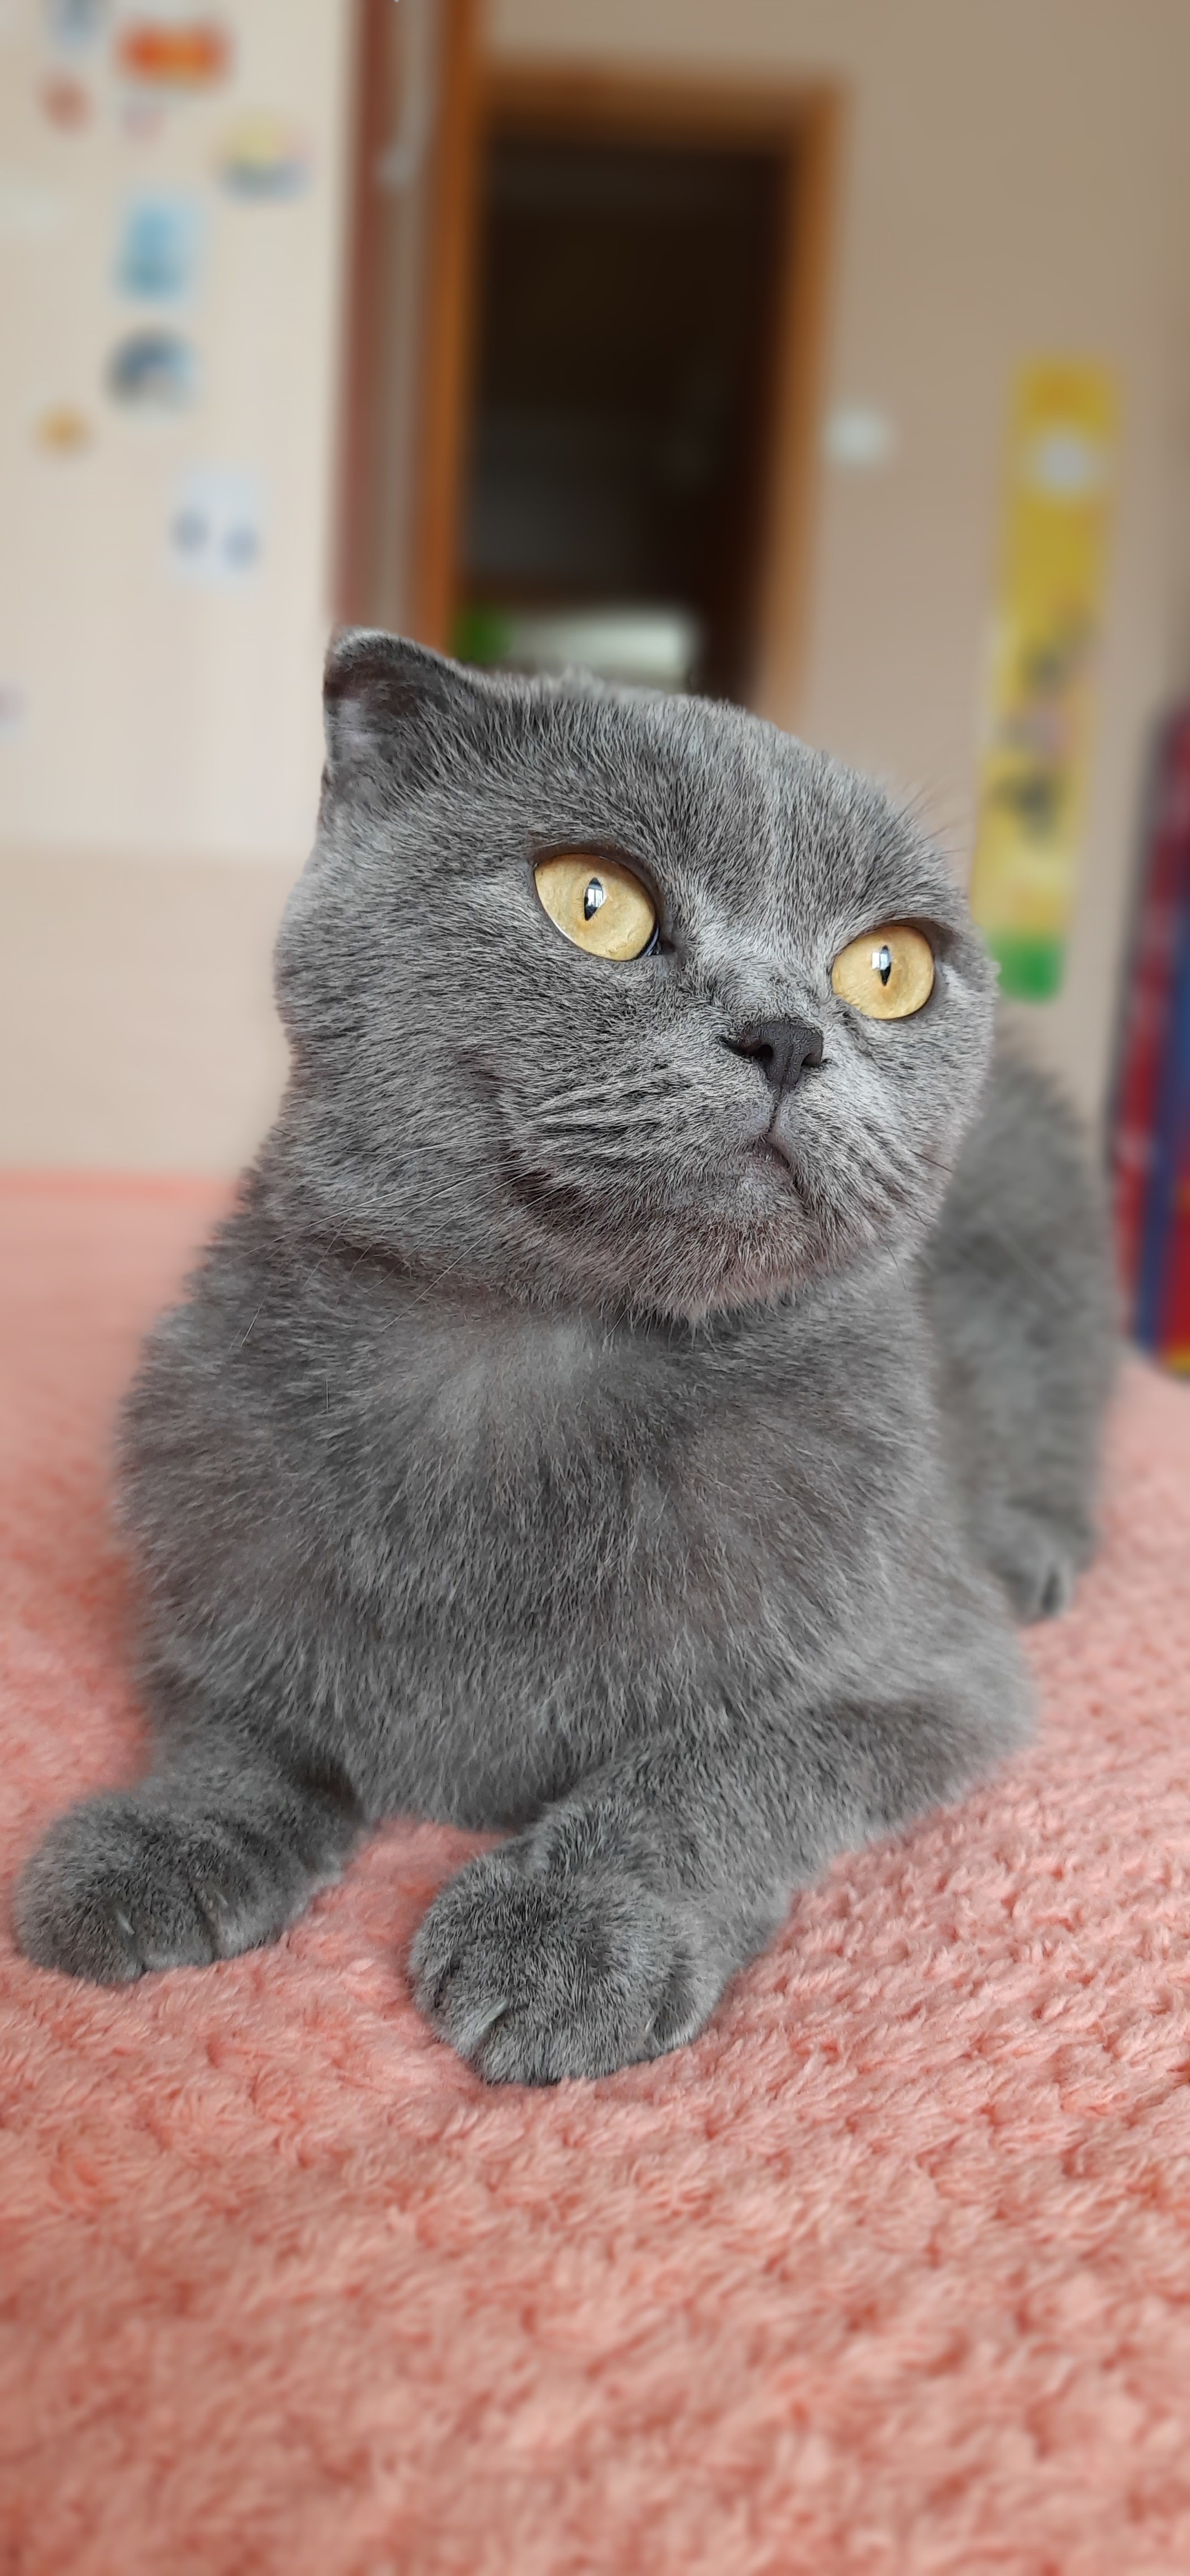
<path id="1" fill-rule="evenodd" d="M 0 1203 L 5 1875 L 137 1767 L 106 1427 L 211 1203 Z M 430 2040 L 428 1826 L 126 1994 L 5 1932 L 5 2571 L 1190 2568 L 1190 1396 L 1133 1368 L 1113 1450 L 1038 1749 L 659 2066 Z"/>

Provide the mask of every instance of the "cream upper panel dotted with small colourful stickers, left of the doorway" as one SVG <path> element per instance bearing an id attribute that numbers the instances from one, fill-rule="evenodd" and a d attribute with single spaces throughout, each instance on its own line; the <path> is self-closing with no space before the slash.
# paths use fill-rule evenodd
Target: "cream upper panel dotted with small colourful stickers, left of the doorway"
<path id="1" fill-rule="evenodd" d="M 121 15 L 121 13 L 116 13 Z M 137 13 L 131 13 L 137 15 Z M 0 46 L 0 685 L 26 701 L 0 742 L 8 842 L 147 858 L 299 853 L 319 770 L 317 677 L 327 613 L 327 495 L 337 412 L 345 28 L 335 0 L 240 0 L 234 77 L 129 137 L 106 52 L 54 57 L 41 0 L 15 0 Z M 59 131 L 46 77 L 77 77 L 93 116 Z M 214 185 L 229 124 L 265 108 L 309 139 L 312 185 L 245 204 Z M 185 191 L 203 211 L 193 296 L 116 289 L 129 196 Z M 180 332 L 198 399 L 134 412 L 106 363 L 137 325 Z M 36 420 L 70 404 L 77 453 Z M 250 474 L 260 569 L 198 587 L 167 528 L 193 469 Z"/>

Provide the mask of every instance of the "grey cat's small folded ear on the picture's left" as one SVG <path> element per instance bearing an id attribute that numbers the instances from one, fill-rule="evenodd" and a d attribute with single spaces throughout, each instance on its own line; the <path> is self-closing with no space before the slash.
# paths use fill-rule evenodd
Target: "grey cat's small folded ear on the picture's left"
<path id="1" fill-rule="evenodd" d="M 428 644 L 348 626 L 332 639 L 322 680 L 330 778 L 348 781 L 366 765 L 415 786 L 474 734 L 489 698 L 492 683 Z"/>

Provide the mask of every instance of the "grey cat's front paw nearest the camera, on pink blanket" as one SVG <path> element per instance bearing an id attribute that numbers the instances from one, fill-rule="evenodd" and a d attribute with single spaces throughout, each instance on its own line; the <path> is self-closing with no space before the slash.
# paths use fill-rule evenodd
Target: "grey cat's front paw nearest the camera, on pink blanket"
<path id="1" fill-rule="evenodd" d="M 701 2030 L 721 1984 L 677 1904 L 610 1868 L 549 1875 L 507 1850 L 443 1888 L 410 1968 L 430 2027 L 489 2084 L 665 2056 Z"/>

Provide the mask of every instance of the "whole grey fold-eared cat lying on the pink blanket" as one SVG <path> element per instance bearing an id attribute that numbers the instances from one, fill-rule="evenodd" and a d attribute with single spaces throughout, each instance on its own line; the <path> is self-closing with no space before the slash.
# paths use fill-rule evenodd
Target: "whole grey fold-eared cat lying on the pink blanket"
<path id="1" fill-rule="evenodd" d="M 28 1958 L 227 1958 L 379 1816 L 497 1824 L 417 2002 L 595 2076 L 1023 1741 L 1113 1327 L 992 984 L 922 832 L 755 716 L 340 639 L 291 1084 L 124 1422 L 155 1767 L 28 1862 Z"/>

